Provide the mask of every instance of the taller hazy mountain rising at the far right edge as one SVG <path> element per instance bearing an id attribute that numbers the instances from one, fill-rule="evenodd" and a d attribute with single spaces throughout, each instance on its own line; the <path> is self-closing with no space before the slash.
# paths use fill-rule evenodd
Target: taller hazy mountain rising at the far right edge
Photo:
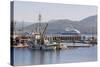
<path id="1" fill-rule="evenodd" d="M 97 32 L 97 15 L 87 17 L 79 21 L 79 24 L 75 26 L 81 33 L 93 33 Z"/>

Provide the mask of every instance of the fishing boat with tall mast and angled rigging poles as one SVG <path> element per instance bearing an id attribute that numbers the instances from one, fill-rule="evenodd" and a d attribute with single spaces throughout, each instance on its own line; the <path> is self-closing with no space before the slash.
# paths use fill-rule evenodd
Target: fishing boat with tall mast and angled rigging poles
<path id="1" fill-rule="evenodd" d="M 53 42 L 53 39 L 48 39 L 45 35 L 46 29 L 48 27 L 48 23 L 45 24 L 44 27 L 41 25 L 41 14 L 38 15 L 39 23 L 35 28 L 35 32 L 33 32 L 30 41 L 27 43 L 29 47 L 32 49 L 38 50 L 54 50 L 60 49 L 59 43 Z"/>

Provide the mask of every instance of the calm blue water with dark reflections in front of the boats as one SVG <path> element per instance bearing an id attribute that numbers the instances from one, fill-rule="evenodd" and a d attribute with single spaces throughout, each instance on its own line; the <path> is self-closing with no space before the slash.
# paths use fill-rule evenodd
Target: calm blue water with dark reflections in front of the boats
<path id="1" fill-rule="evenodd" d="M 96 60 L 96 46 L 60 51 L 40 51 L 29 48 L 14 48 L 14 65 L 54 64 Z"/>

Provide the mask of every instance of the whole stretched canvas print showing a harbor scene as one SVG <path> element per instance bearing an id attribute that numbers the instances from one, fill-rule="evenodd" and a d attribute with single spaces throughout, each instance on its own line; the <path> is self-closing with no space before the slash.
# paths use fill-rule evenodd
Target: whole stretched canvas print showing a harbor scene
<path id="1" fill-rule="evenodd" d="M 11 3 L 12 66 L 97 61 L 97 7 Z"/>

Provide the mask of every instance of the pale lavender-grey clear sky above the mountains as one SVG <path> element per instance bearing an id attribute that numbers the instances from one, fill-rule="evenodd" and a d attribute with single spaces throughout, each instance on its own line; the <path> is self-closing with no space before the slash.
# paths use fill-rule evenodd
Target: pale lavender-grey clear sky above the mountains
<path id="1" fill-rule="evenodd" d="M 38 22 L 39 14 L 42 15 L 42 22 L 56 19 L 79 21 L 88 16 L 97 15 L 97 7 L 14 1 L 14 21 Z"/>

